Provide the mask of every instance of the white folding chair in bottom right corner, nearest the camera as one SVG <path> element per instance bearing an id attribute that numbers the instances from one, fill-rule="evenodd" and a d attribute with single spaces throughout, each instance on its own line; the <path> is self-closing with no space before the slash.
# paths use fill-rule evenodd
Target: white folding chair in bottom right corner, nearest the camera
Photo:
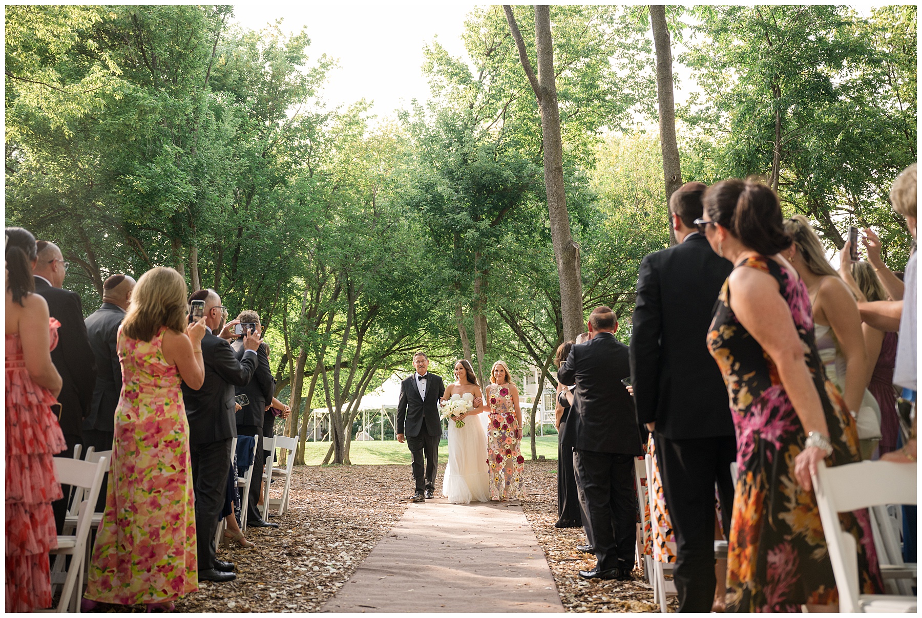
<path id="1" fill-rule="evenodd" d="M 842 531 L 838 517 L 859 508 L 916 504 L 916 464 L 861 461 L 827 468 L 821 461 L 813 476 L 813 488 L 839 589 L 839 611 L 916 612 L 916 597 L 860 594 L 857 543 L 855 537 Z"/>

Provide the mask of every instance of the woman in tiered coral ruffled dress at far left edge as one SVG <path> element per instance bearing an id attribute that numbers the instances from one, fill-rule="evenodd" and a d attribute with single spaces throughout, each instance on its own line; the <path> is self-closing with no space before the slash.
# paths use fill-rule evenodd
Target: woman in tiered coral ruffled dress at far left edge
<path id="1" fill-rule="evenodd" d="M 52 406 L 61 376 L 50 350 L 58 321 L 36 295 L 35 238 L 6 228 L 6 612 L 52 605 L 48 551 L 57 547 L 52 500 L 60 498 L 52 456 L 65 449 Z"/>

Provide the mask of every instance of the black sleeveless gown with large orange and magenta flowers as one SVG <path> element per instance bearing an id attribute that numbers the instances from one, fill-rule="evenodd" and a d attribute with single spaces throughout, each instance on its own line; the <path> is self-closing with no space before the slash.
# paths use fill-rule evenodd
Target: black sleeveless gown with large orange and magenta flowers
<path id="1" fill-rule="evenodd" d="M 740 267 L 771 274 L 791 310 L 829 426 L 833 454 L 827 465 L 861 461 L 855 421 L 826 379 L 817 352 L 807 287 L 764 256 L 745 259 Z M 799 612 L 803 603 L 838 602 L 816 497 L 794 476 L 794 459 L 807 436 L 777 367 L 739 323 L 729 302 L 725 282 L 707 336 L 727 383 L 737 432 L 739 480 L 727 557 L 727 612 Z M 843 530 L 857 542 L 862 592 L 880 592 L 867 509 L 839 517 Z"/>

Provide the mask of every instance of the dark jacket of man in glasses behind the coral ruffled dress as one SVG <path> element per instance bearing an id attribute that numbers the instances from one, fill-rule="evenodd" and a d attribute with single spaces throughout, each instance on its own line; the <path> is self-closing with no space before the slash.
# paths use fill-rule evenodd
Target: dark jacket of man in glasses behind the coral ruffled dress
<path id="1" fill-rule="evenodd" d="M 35 293 L 48 303 L 48 312 L 61 322 L 58 344 L 52 350 L 52 362 L 64 382 L 61 403 L 61 431 L 83 436 L 83 419 L 89 416 L 96 386 L 96 357 L 89 346 L 87 325 L 83 323 L 83 305 L 76 292 L 50 286 L 35 277 Z"/>

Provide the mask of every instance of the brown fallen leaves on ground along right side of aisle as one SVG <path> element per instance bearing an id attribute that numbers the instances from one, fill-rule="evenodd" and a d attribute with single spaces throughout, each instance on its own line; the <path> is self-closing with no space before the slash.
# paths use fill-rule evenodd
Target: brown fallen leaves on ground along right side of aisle
<path id="1" fill-rule="evenodd" d="M 632 581 L 579 577 L 581 569 L 596 566 L 596 556 L 576 551 L 585 543 L 582 528 L 554 528 L 557 521 L 557 461 L 528 461 L 526 498 L 522 500 L 528 523 L 548 559 L 557 582 L 563 608 L 568 612 L 659 612 L 653 589 L 644 581 L 642 569 L 635 568 Z M 678 603 L 669 600 L 675 612 Z"/>

